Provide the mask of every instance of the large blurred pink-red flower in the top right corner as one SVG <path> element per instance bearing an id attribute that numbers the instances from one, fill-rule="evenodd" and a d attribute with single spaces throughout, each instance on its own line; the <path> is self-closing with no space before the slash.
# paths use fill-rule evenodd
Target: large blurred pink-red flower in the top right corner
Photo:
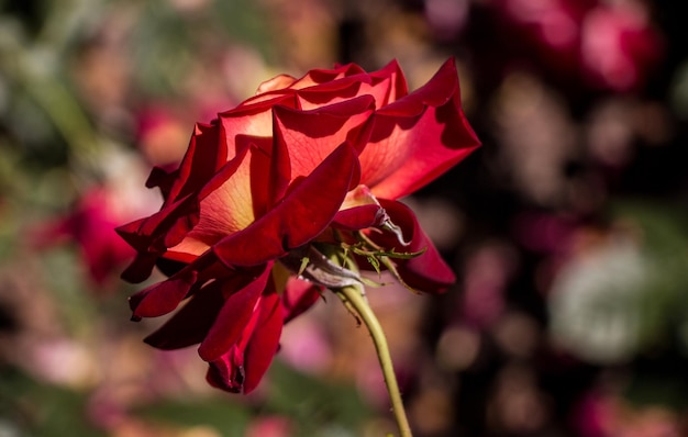
<path id="1" fill-rule="evenodd" d="M 662 58 L 661 34 L 636 0 L 498 0 L 495 5 L 503 21 L 500 31 L 535 63 L 593 89 L 637 89 Z"/>

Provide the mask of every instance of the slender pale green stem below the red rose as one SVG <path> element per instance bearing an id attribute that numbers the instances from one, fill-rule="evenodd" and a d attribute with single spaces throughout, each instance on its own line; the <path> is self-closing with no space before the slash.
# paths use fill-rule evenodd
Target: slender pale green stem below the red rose
<path id="1" fill-rule="evenodd" d="M 373 309 L 370 309 L 367 300 L 364 298 L 360 285 L 343 287 L 335 290 L 335 293 L 349 310 L 355 310 L 368 328 L 370 337 L 373 337 L 373 343 L 375 344 L 375 349 L 377 350 L 377 357 L 380 361 L 385 383 L 387 384 L 387 391 L 389 392 L 389 399 L 391 401 L 392 413 L 397 419 L 400 436 L 411 437 L 411 427 L 409 426 L 409 421 L 403 410 L 403 402 L 401 401 L 401 393 L 399 392 L 399 385 L 397 383 L 397 377 L 395 376 L 389 347 L 387 346 L 387 337 L 385 337 L 382 326 L 375 316 L 375 313 L 373 313 Z"/>

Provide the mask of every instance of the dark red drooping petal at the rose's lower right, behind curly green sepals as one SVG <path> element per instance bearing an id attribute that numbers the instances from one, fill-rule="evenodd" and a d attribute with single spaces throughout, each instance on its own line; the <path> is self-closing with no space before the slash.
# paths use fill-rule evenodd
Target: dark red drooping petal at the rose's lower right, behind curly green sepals
<path id="1" fill-rule="evenodd" d="M 415 290 L 429 293 L 445 291 L 456 281 L 456 277 L 421 228 L 413 211 L 400 202 L 385 199 L 379 199 L 379 201 L 392 223 L 401 227 L 404 239 L 410 240 L 410 244 L 401 245 L 397 236 L 389 232 L 370 233 L 370 238 L 386 249 L 395 248 L 397 251 L 406 253 L 425 249 L 424 254 L 415 258 L 393 260 L 398 265 L 399 274 Z"/>

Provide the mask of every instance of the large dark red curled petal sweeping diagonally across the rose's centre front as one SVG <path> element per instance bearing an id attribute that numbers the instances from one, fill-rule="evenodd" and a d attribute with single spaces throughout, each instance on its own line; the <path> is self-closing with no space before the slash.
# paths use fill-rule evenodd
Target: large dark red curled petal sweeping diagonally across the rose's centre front
<path id="1" fill-rule="evenodd" d="M 226 266 L 256 266 L 312 240 L 337 213 L 357 167 L 352 147 L 341 145 L 281 203 L 213 251 Z"/>

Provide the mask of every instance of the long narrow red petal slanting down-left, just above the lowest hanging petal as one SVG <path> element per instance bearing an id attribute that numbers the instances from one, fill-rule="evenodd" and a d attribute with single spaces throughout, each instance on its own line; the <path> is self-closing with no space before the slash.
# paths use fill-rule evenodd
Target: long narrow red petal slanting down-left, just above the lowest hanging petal
<path id="1" fill-rule="evenodd" d="M 270 277 L 271 264 L 243 289 L 233 292 L 222 305 L 215 322 L 198 348 L 198 354 L 206 361 L 213 361 L 225 354 L 236 343 L 240 334 L 251 320 L 255 304 L 265 290 Z"/>

